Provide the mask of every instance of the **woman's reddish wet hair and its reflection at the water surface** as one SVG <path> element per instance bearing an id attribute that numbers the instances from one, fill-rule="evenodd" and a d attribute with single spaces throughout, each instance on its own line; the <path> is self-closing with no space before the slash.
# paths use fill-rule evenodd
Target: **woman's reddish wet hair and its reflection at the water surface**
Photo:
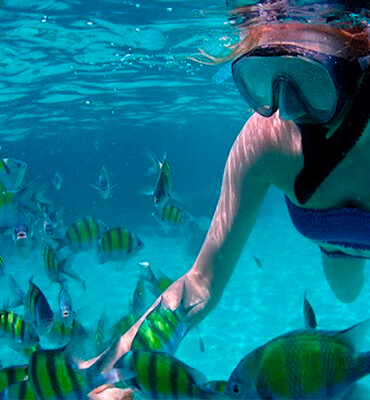
<path id="1" fill-rule="evenodd" d="M 284 40 L 291 34 L 294 40 L 295 33 L 330 36 L 339 47 L 343 48 L 344 44 L 344 56 L 348 58 L 367 55 L 370 53 L 370 11 L 363 8 L 362 1 L 336 0 L 299 6 L 295 0 L 265 0 L 237 7 L 231 11 L 230 19 L 242 39 L 233 47 L 229 59 L 266 39 L 276 43 L 279 37 Z"/>

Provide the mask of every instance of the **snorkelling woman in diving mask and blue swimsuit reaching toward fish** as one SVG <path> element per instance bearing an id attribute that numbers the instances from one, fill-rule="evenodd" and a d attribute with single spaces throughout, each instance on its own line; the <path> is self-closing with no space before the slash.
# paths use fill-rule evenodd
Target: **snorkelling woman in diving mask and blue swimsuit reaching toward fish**
<path id="1" fill-rule="evenodd" d="M 284 193 L 297 230 L 319 246 L 335 296 L 350 303 L 359 295 L 370 258 L 370 28 L 365 18 L 341 23 L 338 17 L 350 15 L 354 3 L 341 1 L 334 22 L 242 27 L 232 73 L 254 113 L 230 151 L 195 263 L 163 294 L 171 309 L 184 291 L 188 305 L 198 303 L 191 324 L 219 302 L 270 185 Z M 121 337 L 115 361 L 147 313 Z M 111 390 L 118 389 L 94 398 L 115 398 Z"/>

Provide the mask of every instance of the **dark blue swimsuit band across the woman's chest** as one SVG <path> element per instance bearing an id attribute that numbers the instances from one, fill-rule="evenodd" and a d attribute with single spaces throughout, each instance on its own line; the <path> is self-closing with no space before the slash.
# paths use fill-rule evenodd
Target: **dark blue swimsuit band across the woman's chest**
<path id="1" fill-rule="evenodd" d="M 343 251 L 321 251 L 330 257 L 370 258 L 363 255 L 349 255 L 345 250 L 370 251 L 370 213 L 357 208 L 343 207 L 331 210 L 302 208 L 285 201 L 293 225 L 308 239 L 339 246 Z"/>

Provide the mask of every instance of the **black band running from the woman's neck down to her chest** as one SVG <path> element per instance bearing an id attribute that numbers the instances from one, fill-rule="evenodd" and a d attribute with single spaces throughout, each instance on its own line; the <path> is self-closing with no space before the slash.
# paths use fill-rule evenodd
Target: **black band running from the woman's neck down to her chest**
<path id="1" fill-rule="evenodd" d="M 369 90 L 370 69 L 367 69 L 346 116 L 329 139 L 325 138 L 327 128 L 313 124 L 298 125 L 302 135 L 304 164 L 294 181 L 294 191 L 300 204 L 307 203 L 365 130 L 370 119 Z"/>

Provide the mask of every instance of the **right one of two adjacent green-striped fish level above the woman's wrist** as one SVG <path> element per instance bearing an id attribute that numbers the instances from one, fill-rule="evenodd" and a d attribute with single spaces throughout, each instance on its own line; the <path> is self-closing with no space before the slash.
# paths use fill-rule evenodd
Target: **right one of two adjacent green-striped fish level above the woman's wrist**
<path id="1" fill-rule="evenodd" d="M 117 261 L 137 253 L 143 242 L 126 228 L 112 228 L 103 232 L 99 244 L 98 262 Z"/>

